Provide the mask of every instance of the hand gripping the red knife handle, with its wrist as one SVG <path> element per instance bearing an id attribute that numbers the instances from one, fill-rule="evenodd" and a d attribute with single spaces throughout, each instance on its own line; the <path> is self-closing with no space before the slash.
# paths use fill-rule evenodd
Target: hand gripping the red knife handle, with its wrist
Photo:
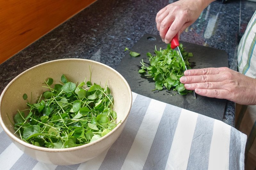
<path id="1" fill-rule="evenodd" d="M 156 14 L 156 27 L 165 43 L 196 21 L 201 12 L 215 0 L 179 0 Z"/>

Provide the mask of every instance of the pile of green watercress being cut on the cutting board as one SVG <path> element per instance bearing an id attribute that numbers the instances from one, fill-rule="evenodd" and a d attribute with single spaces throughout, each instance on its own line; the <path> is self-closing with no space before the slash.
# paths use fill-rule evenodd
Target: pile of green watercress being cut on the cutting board
<path id="1" fill-rule="evenodd" d="M 172 50 L 170 44 L 166 49 L 158 51 L 155 47 L 155 54 L 147 53 L 149 65 L 146 66 L 143 59 L 140 62 L 141 69 L 139 73 L 145 74 L 147 78 L 153 78 L 156 89 L 154 90 L 173 90 L 178 91 L 180 95 L 186 95 L 190 90 L 184 88 L 184 84 L 180 83 L 180 77 L 184 75 L 185 64 L 190 69 L 189 57 L 193 57 L 191 52 L 186 52 L 182 44 L 180 44 L 180 52 L 184 58 L 184 62 L 178 54 L 178 51 Z"/>

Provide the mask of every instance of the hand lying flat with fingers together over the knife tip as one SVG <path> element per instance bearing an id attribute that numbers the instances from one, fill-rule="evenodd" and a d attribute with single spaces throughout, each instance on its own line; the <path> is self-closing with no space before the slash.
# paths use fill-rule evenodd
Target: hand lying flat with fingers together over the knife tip
<path id="1" fill-rule="evenodd" d="M 180 82 L 201 96 L 227 99 L 238 104 L 256 104 L 256 79 L 227 67 L 191 69 Z"/>

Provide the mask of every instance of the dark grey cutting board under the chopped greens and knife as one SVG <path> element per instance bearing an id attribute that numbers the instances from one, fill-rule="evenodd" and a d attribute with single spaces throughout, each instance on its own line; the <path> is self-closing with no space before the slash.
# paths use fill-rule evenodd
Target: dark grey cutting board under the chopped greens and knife
<path id="1" fill-rule="evenodd" d="M 228 55 L 224 50 L 181 41 L 180 43 L 183 44 L 186 51 L 192 52 L 194 55 L 194 57 L 189 59 L 189 62 L 192 63 L 192 68 L 228 67 Z M 138 73 L 138 70 L 140 69 L 142 58 L 145 63 L 148 63 L 147 52 L 155 54 L 155 45 L 158 50 L 160 47 L 162 49 L 167 47 L 158 35 L 144 35 L 131 48 L 132 51 L 140 53 L 140 57 L 131 57 L 127 51 L 127 54 L 117 66 L 116 70 L 124 76 L 132 91 L 217 120 L 222 120 L 227 102 L 225 99 L 203 97 L 197 94 L 196 99 L 194 99 L 192 93 L 181 96 L 177 92 L 168 91 L 167 89 L 151 91 L 155 89 L 155 82 L 152 79 L 145 78 L 145 76 Z"/>

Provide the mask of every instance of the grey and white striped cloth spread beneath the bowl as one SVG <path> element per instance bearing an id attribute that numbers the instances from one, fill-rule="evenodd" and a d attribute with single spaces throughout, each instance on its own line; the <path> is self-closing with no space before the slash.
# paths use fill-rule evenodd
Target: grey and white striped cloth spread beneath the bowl
<path id="1" fill-rule="evenodd" d="M 244 169 L 246 135 L 222 121 L 132 93 L 133 104 L 116 142 L 87 162 L 56 166 L 23 154 L 0 128 L 5 169 Z"/>

